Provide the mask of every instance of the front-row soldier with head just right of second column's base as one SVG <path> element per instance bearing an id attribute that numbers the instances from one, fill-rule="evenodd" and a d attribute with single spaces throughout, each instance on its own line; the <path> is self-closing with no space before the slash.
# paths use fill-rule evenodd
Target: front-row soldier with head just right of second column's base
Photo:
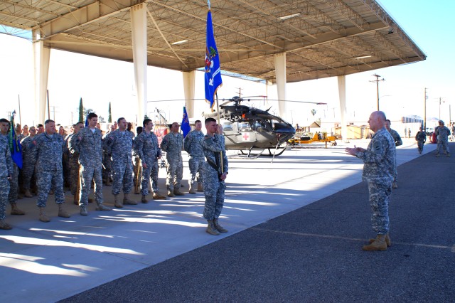
<path id="1" fill-rule="evenodd" d="M 148 203 L 146 196 L 149 194 L 151 171 L 154 169 L 157 156 L 160 155 L 158 138 L 156 134 L 151 132 L 154 124 L 151 119 L 144 119 L 144 131 L 137 137 L 137 155 L 141 159 L 142 174 L 141 174 L 141 194 L 142 203 Z M 154 192 L 154 199 L 161 200 L 164 196 L 159 195 L 158 191 Z"/>

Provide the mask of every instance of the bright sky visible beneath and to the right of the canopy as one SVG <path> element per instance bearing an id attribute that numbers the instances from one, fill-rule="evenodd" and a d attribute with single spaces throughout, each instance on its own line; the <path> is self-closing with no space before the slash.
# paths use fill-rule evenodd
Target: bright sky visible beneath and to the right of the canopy
<path id="1" fill-rule="evenodd" d="M 376 108 L 376 84 L 373 74 L 384 78 L 379 83 L 380 109 L 389 119 L 404 115 L 424 115 L 424 89 L 427 87 L 427 118 L 440 117 L 446 122 L 455 120 L 455 63 L 451 53 L 455 49 L 454 23 L 449 21 L 455 12 L 455 1 L 438 0 L 381 0 L 380 4 L 395 19 L 402 29 L 427 55 L 427 60 L 391 68 L 346 76 L 346 111 L 348 120 L 368 120 Z M 23 38 L 0 34 L 0 115 L 18 112 L 21 100 L 22 124 L 34 121 L 33 52 L 29 41 Z M 180 72 L 148 67 L 148 111 L 158 107 L 164 111 L 169 122 L 181 122 L 184 105 L 183 80 Z M 277 99 L 277 87 L 266 87 L 223 77 L 223 87 L 218 96 L 230 98 L 242 87 L 242 96 L 267 95 Z M 77 119 L 80 97 L 85 107 L 95 110 L 107 119 L 109 102 L 112 102 L 112 118 L 126 117 L 137 121 L 137 101 L 134 92 L 134 69 L 132 63 L 97 58 L 60 50 L 50 51 L 48 76 L 50 118 L 60 124 L 72 124 Z M 203 73 L 196 73 L 195 98 L 203 99 Z M 441 105 L 439 106 L 439 98 Z M 155 102 L 157 100 L 181 100 Z M 287 120 L 291 124 L 307 125 L 321 117 L 331 121 L 338 117 L 338 80 L 324 78 L 287 84 L 287 100 L 325 102 L 327 105 L 304 105 L 287 103 Z M 255 107 L 264 107 L 263 102 L 252 102 Z M 278 113 L 272 102 L 271 112 Z M 449 111 L 450 108 L 450 111 Z M 208 111 L 205 101 L 196 101 L 195 118 Z M 316 110 L 316 115 L 311 115 Z M 335 118 L 334 118 L 335 115 Z M 18 122 L 18 118 L 16 119 Z"/>

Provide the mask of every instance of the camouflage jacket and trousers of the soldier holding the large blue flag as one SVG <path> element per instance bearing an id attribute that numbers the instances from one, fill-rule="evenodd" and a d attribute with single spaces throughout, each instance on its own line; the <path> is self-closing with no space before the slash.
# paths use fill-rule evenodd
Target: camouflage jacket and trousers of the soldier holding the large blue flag
<path id="1" fill-rule="evenodd" d="M 225 151 L 225 138 L 215 134 L 213 137 L 205 136 L 200 140 L 203 153 L 207 161 L 204 163 L 204 196 L 205 207 L 203 216 L 207 220 L 218 219 L 225 202 L 225 181 L 220 181 L 220 152 L 223 152 L 223 172 L 228 173 L 228 157 Z M 218 166 L 215 170 L 211 165 Z"/>

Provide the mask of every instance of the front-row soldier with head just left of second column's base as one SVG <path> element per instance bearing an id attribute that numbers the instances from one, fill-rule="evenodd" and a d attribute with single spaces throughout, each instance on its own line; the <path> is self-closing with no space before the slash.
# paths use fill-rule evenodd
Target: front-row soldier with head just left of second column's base
<path id="1" fill-rule="evenodd" d="M 132 132 L 127 131 L 127 120 L 117 120 L 119 129 L 109 132 L 105 139 L 105 150 L 112 156 L 112 172 L 114 183 L 112 194 L 114 195 L 114 206 L 122 208 L 123 204 L 136 205 L 136 201 L 129 200 L 128 194 L 133 187 L 133 163 L 132 163 Z M 118 196 L 123 187 L 123 202 Z"/>

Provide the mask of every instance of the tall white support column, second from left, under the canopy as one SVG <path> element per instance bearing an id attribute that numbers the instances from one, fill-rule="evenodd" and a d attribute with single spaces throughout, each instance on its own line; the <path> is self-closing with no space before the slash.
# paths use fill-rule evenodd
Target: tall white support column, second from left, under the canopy
<path id="1" fill-rule="evenodd" d="M 147 7 L 138 4 L 129 9 L 133 40 L 134 82 L 137 95 L 137 122 L 147 114 Z"/>

